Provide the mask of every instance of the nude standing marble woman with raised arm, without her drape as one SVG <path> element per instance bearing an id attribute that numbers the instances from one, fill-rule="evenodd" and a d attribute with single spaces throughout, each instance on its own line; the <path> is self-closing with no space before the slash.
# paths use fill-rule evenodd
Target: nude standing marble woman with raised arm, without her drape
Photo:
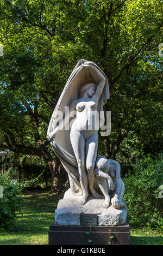
<path id="1" fill-rule="evenodd" d="M 70 105 L 70 116 L 73 111 L 76 111 L 76 119 L 71 127 L 70 140 L 77 159 L 79 180 L 83 190 L 82 205 L 86 203 L 88 197 L 88 185 L 92 195 L 95 198 L 98 197 L 98 193 L 94 188 L 95 174 L 93 172 L 98 148 L 98 130 L 95 129 L 97 116 L 95 111 L 97 112 L 98 101 L 106 81 L 105 76 L 99 70 L 95 67 L 91 68 L 98 75 L 99 84 L 89 83 L 82 86 L 80 98 L 74 100 Z M 69 117 L 65 116 L 64 126 L 66 126 L 67 121 L 69 121 Z M 58 130 L 62 128 L 56 127 L 53 132 L 47 135 L 47 139 L 52 140 Z"/>

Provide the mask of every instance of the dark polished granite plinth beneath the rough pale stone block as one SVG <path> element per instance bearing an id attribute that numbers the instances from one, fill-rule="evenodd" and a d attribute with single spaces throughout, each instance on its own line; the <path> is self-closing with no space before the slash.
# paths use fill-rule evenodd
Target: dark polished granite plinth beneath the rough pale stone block
<path id="1" fill-rule="evenodd" d="M 49 228 L 49 245 L 130 245 L 129 221 L 120 226 L 91 228 L 53 223 Z"/>

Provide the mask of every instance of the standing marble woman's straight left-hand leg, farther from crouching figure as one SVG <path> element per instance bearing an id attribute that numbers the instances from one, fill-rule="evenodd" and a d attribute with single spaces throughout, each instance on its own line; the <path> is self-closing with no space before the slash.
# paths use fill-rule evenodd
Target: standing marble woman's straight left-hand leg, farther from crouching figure
<path id="1" fill-rule="evenodd" d="M 83 135 L 80 134 L 77 130 L 71 130 L 70 140 L 78 163 L 79 180 L 83 190 L 82 205 L 84 205 L 88 196 L 87 176 L 85 169 L 85 140 Z"/>

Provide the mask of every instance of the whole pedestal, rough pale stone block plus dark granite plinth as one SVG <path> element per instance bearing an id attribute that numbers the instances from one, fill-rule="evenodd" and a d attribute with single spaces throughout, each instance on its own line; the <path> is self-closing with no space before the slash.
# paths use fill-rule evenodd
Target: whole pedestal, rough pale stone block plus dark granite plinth
<path id="1" fill-rule="evenodd" d="M 102 194 L 98 199 L 90 195 L 85 205 L 81 205 L 81 201 L 82 196 L 72 195 L 71 190 L 67 190 L 55 210 L 49 245 L 130 245 L 127 207 L 115 209 L 110 205 L 104 209 Z M 94 217 L 96 221 L 93 219 L 93 224 L 87 224 L 87 219 L 89 223 Z"/>

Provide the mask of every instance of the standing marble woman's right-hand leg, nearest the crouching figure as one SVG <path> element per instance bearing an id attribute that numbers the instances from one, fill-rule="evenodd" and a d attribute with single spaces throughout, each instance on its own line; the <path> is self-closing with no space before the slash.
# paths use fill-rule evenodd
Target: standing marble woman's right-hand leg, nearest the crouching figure
<path id="1" fill-rule="evenodd" d="M 97 148 L 98 148 L 98 134 L 97 132 L 93 134 L 89 139 L 85 142 L 86 148 L 86 169 L 87 169 L 87 177 L 89 180 L 89 188 L 93 195 L 93 197 L 98 198 L 98 193 L 94 188 L 95 183 L 95 163 L 97 157 Z"/>

